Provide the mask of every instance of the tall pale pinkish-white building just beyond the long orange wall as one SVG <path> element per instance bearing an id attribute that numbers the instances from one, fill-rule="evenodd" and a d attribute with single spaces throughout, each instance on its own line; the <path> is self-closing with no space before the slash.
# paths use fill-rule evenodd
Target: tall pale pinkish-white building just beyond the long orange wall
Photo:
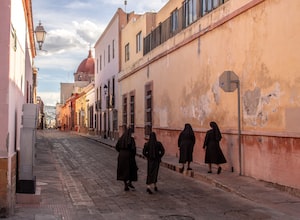
<path id="1" fill-rule="evenodd" d="M 134 17 L 118 9 L 95 44 L 96 133 L 118 137 L 118 73 L 121 70 L 121 30 Z"/>

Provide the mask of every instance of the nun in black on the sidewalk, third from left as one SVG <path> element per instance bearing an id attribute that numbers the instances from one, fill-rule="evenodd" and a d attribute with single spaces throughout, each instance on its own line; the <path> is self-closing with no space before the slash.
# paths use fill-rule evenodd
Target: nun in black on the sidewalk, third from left
<path id="1" fill-rule="evenodd" d="M 179 163 L 182 164 L 180 172 L 184 170 L 184 165 L 187 162 L 187 170 L 192 170 L 190 163 L 193 161 L 193 151 L 195 145 L 195 134 L 190 124 L 185 124 L 183 131 L 178 137 L 179 147 Z"/>

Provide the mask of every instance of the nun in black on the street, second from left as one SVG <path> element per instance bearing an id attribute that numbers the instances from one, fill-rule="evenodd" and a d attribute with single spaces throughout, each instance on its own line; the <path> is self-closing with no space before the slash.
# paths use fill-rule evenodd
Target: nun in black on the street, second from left
<path id="1" fill-rule="evenodd" d="M 157 191 L 157 177 L 161 158 L 165 154 L 165 149 L 161 142 L 157 141 L 155 132 L 150 133 L 149 141 L 145 143 L 143 155 L 147 158 L 147 192 L 152 194 L 151 184 Z"/>

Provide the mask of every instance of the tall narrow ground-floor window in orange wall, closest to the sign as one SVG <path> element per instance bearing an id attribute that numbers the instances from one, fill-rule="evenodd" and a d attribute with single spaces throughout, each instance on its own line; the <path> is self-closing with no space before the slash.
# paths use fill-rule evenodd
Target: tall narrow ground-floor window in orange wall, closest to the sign
<path id="1" fill-rule="evenodd" d="M 145 86 L 145 136 L 152 131 L 152 83 Z"/>

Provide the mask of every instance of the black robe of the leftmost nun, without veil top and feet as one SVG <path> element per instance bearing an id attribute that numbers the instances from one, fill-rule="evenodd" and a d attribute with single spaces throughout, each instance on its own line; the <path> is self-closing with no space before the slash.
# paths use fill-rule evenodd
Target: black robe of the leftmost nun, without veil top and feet
<path id="1" fill-rule="evenodd" d="M 135 160 L 136 146 L 134 138 L 126 148 L 121 147 L 122 141 L 118 141 L 116 150 L 119 152 L 117 165 L 117 180 L 137 181 L 137 164 Z"/>

